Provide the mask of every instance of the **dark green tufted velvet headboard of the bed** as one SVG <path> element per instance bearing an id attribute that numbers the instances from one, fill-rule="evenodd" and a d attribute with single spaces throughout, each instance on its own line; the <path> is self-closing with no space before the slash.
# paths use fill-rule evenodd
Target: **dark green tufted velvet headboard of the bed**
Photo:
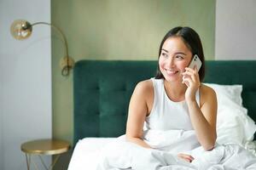
<path id="1" fill-rule="evenodd" d="M 79 60 L 73 71 L 73 144 L 85 137 L 125 133 L 137 82 L 154 77 L 157 61 Z M 207 61 L 204 82 L 242 84 L 243 105 L 256 121 L 256 60 Z"/>

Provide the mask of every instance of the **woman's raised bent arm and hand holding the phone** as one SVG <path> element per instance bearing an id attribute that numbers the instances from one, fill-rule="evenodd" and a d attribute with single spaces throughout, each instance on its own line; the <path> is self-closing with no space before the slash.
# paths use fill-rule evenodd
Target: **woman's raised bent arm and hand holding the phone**
<path id="1" fill-rule="evenodd" d="M 201 85 L 197 69 L 186 68 L 183 78 L 187 85 L 185 99 L 189 107 L 189 116 L 198 141 L 205 150 L 212 150 L 216 142 L 216 117 L 217 98 L 214 90 L 205 85 Z M 201 107 L 195 100 L 195 92 L 200 88 Z"/>

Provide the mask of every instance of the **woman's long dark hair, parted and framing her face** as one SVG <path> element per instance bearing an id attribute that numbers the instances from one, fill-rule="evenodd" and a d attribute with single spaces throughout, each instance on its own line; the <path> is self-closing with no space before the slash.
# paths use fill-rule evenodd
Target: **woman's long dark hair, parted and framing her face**
<path id="1" fill-rule="evenodd" d="M 202 82 L 202 80 L 205 77 L 205 56 L 204 56 L 203 48 L 201 45 L 201 39 L 199 35 L 196 33 L 195 30 L 193 30 L 190 27 L 177 26 L 175 28 L 172 28 L 172 30 L 166 33 L 166 36 L 163 38 L 162 42 L 160 43 L 158 60 L 160 58 L 163 44 L 164 42 L 166 42 L 166 39 L 168 39 L 169 37 L 181 37 L 183 42 L 190 49 L 192 56 L 194 56 L 195 54 L 199 56 L 199 58 L 201 59 L 202 65 L 198 74 L 200 77 L 200 81 Z M 163 74 L 160 71 L 159 64 L 157 66 L 157 72 L 156 72 L 155 78 L 156 79 L 164 78 Z"/>

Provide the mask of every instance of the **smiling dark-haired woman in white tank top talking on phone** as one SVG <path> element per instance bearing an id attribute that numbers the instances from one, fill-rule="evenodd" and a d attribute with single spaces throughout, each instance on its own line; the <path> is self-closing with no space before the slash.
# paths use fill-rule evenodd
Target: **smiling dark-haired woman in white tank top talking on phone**
<path id="1" fill-rule="evenodd" d="M 199 73 L 196 68 L 188 68 L 194 54 L 202 61 Z M 195 130 L 192 145 L 176 150 L 175 154 L 195 145 L 212 150 L 216 140 L 217 101 L 212 88 L 201 84 L 203 76 L 204 55 L 198 34 L 189 27 L 168 31 L 160 43 L 157 76 L 139 82 L 131 96 L 126 139 L 152 148 L 143 141 L 146 122 L 148 130 Z"/>

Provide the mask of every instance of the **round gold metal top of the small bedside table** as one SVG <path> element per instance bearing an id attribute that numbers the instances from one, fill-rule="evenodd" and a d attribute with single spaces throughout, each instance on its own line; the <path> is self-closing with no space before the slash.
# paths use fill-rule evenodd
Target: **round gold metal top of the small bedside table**
<path id="1" fill-rule="evenodd" d="M 37 139 L 21 144 L 20 149 L 28 154 L 55 155 L 67 152 L 70 143 L 61 139 Z"/>

